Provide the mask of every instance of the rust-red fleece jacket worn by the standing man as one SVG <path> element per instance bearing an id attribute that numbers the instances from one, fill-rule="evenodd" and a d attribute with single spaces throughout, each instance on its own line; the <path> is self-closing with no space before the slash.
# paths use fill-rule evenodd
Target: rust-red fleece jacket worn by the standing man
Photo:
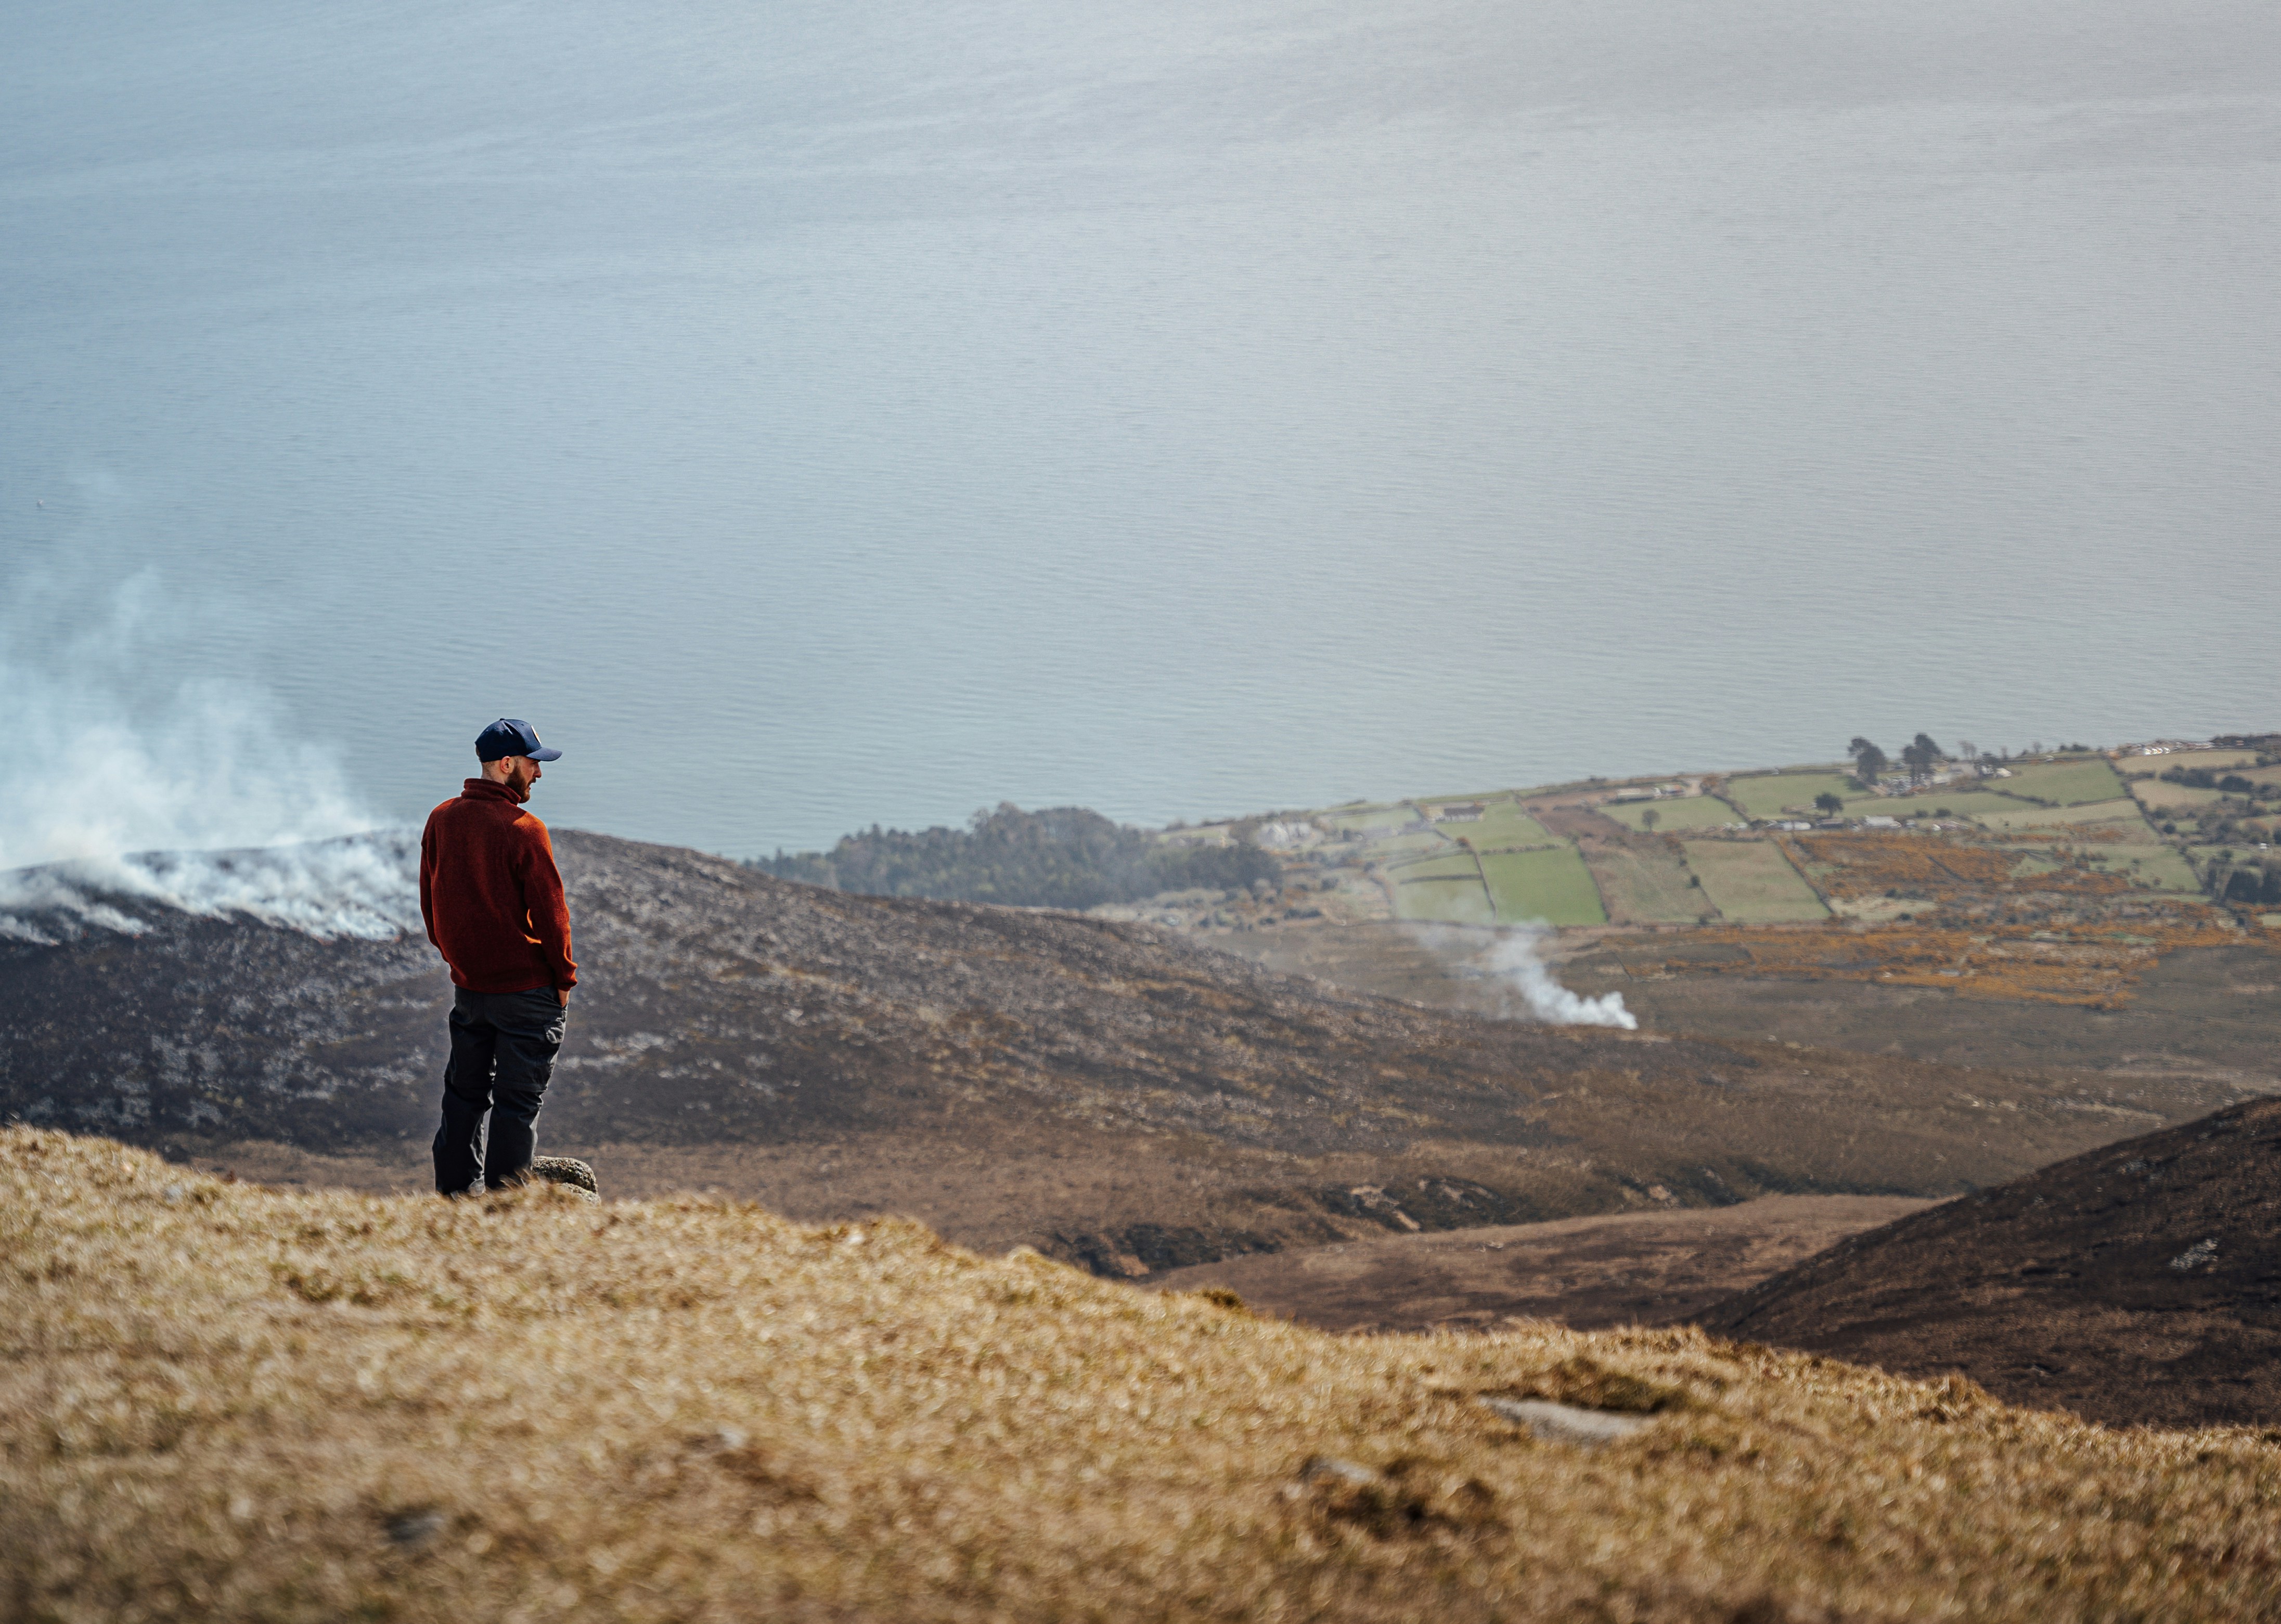
<path id="1" fill-rule="evenodd" d="M 420 917 L 470 992 L 575 988 L 570 906 L 547 826 L 506 785 L 470 778 L 420 835 Z"/>

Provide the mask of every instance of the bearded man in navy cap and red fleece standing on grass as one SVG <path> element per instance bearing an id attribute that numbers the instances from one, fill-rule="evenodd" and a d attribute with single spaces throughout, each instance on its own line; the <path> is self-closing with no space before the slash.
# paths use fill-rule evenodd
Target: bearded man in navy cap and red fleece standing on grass
<path id="1" fill-rule="evenodd" d="M 554 842 L 522 810 L 538 764 L 561 750 L 541 746 L 527 721 L 502 716 L 484 728 L 474 757 L 484 776 L 429 812 L 420 835 L 420 917 L 456 988 L 436 1129 L 445 1195 L 522 1182 L 577 985 Z"/>

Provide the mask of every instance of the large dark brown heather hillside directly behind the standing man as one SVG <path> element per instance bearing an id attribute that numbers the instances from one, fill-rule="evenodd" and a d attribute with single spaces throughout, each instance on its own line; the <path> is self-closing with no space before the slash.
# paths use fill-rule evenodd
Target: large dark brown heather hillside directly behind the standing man
<path id="1" fill-rule="evenodd" d="M 894 1211 L 1138 1275 L 1765 1193 L 1955 1195 L 2178 1113 L 2169 1083 L 1547 1029 L 1150 926 L 557 844 L 584 983 L 541 1143 L 618 1195 Z M 427 942 L 135 908 L 141 935 L 0 942 L 0 1118 L 271 1179 L 427 1182 L 449 994 Z"/>

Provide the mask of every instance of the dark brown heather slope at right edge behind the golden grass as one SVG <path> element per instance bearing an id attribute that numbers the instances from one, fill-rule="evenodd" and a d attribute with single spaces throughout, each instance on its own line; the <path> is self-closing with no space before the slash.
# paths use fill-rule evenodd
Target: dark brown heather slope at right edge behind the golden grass
<path id="1" fill-rule="evenodd" d="M 2281 1426 L 2281 1102 L 1902 1218 L 1697 1318 L 2094 1421 Z"/>

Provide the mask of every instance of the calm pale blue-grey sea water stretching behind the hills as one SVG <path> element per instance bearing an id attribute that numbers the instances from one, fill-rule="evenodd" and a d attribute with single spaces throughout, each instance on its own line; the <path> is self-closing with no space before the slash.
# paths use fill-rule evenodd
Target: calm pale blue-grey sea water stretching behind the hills
<path id="1" fill-rule="evenodd" d="M 0 39 L 18 814 L 417 817 L 502 712 L 732 853 L 2281 725 L 2270 0 Z"/>

